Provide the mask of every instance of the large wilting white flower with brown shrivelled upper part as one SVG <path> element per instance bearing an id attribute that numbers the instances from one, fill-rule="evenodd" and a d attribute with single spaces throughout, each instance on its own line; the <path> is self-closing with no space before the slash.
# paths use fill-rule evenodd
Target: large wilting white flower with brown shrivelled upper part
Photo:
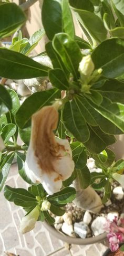
<path id="1" fill-rule="evenodd" d="M 58 192 L 62 182 L 74 171 L 72 152 L 66 139 L 55 137 L 58 111 L 47 106 L 32 117 L 32 132 L 27 150 L 25 171 L 34 183 L 42 183 L 50 195 Z"/>

